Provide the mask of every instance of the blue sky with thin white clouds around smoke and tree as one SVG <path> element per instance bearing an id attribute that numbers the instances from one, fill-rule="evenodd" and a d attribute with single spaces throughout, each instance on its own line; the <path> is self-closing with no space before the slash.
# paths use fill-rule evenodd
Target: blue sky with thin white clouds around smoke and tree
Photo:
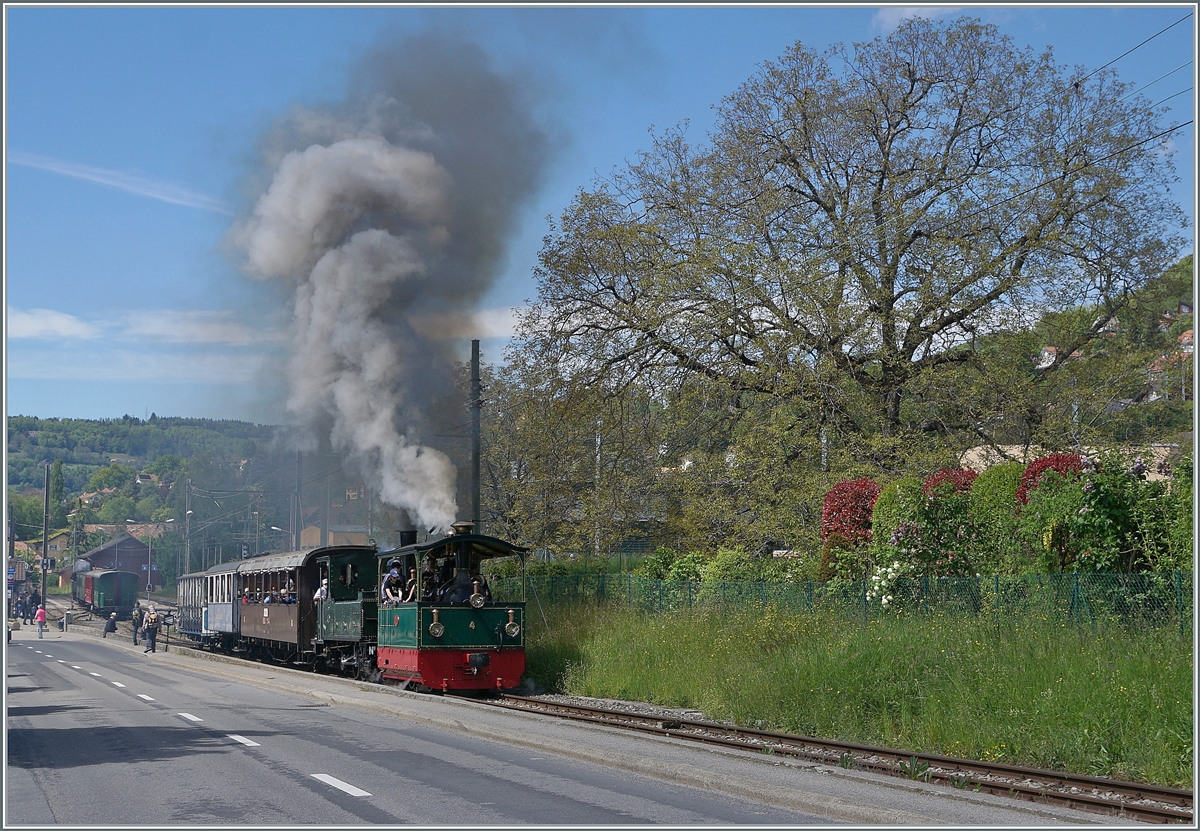
<path id="1" fill-rule="evenodd" d="M 344 97 L 361 55 L 445 30 L 538 95 L 556 153 L 479 309 L 485 358 L 534 294 L 546 217 L 690 120 L 758 64 L 883 35 L 905 16 L 971 14 L 1061 64 L 1112 61 L 1169 120 L 1193 118 L 1189 6 L 1067 7 L 13 7 L 6 16 L 6 412 L 281 422 L 289 306 L 223 239 L 264 131 Z M 1180 68 L 1182 67 L 1182 68 Z M 1194 128 L 1175 133 L 1193 215 Z M 468 336 L 469 337 L 469 336 Z M 469 349 L 464 339 L 463 355 Z"/>

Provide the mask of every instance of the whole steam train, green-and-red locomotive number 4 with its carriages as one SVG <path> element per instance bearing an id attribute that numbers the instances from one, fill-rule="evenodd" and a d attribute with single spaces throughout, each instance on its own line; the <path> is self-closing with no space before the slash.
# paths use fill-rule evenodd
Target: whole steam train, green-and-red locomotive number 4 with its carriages
<path id="1" fill-rule="evenodd" d="M 434 690 L 516 687 L 524 672 L 527 549 L 454 533 L 379 551 L 330 545 L 214 566 L 179 580 L 176 627 L 203 648 Z M 415 536 L 415 534 L 414 534 Z M 481 563 L 516 557 L 521 600 L 496 603 Z M 395 568 L 410 599 L 380 603 Z M 324 586 L 323 592 L 318 592 Z"/>

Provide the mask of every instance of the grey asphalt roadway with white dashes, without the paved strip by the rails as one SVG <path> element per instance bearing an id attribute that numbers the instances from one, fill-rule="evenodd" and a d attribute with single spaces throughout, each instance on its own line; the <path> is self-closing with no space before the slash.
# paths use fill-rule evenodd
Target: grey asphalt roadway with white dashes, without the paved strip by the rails
<path id="1" fill-rule="evenodd" d="M 242 683 L 124 640 L 23 628 L 7 657 L 5 827 L 832 821 Z"/>

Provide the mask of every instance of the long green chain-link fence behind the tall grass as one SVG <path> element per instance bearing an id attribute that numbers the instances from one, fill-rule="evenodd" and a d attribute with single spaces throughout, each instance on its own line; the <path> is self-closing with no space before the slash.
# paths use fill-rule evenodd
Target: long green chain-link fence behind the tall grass
<path id="1" fill-rule="evenodd" d="M 696 606 L 774 605 L 805 612 L 835 612 L 868 621 L 890 614 L 961 614 L 1006 621 L 1040 617 L 1097 628 L 1178 626 L 1190 630 L 1193 573 L 1044 574 L 986 578 L 901 578 L 887 590 L 890 600 L 859 581 L 694 582 L 650 580 L 632 574 L 535 575 L 528 599 L 620 603 L 647 611 Z M 518 579 L 494 580 L 498 600 L 517 599 Z"/>

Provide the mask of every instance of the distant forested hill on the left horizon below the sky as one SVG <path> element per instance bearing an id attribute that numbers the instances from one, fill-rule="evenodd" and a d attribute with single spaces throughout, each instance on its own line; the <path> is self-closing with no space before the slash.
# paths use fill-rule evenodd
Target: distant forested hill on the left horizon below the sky
<path id="1" fill-rule="evenodd" d="M 11 416 L 8 489 L 41 489 L 44 462 L 62 460 L 64 490 L 78 494 L 88 479 L 113 459 L 142 468 L 160 456 L 188 459 L 196 454 L 253 458 L 274 441 L 278 428 L 206 418 L 114 419 L 34 418 Z"/>

